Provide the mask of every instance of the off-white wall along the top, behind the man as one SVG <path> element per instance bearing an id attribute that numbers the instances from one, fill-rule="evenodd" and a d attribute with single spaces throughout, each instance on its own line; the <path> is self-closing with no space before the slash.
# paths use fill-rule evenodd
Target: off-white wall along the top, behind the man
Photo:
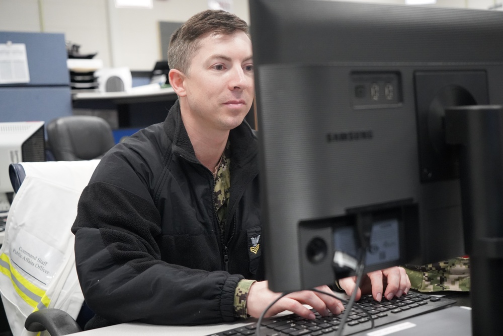
<path id="1" fill-rule="evenodd" d="M 500 2 L 437 0 L 436 6 L 487 9 Z M 153 9 L 116 9 L 114 4 L 114 0 L 0 0 L 0 30 L 64 33 L 66 40 L 81 45 L 81 53 L 98 52 L 95 58 L 103 59 L 105 66 L 150 70 L 162 57 L 158 22 L 183 22 L 208 8 L 208 0 L 153 0 Z M 249 22 L 248 0 L 233 0 L 232 12 Z"/>

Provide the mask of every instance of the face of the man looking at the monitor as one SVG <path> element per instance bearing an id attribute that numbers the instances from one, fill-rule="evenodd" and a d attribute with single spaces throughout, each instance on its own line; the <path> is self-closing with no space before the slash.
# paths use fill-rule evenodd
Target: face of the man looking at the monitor
<path id="1" fill-rule="evenodd" d="M 254 98 L 251 41 L 239 31 L 208 34 L 199 42 L 184 80 L 183 112 L 208 131 L 232 129 L 242 122 Z"/>

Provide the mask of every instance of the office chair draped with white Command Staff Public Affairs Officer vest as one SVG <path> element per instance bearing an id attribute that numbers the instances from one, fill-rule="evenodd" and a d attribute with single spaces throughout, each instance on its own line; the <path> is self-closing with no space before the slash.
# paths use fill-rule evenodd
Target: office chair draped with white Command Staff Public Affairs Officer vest
<path id="1" fill-rule="evenodd" d="M 76 276 L 70 227 L 80 193 L 98 162 L 25 162 L 9 167 L 16 196 L 0 248 L 0 294 L 15 335 L 42 330 L 65 335 L 81 331 L 86 322 L 76 322 L 89 311 Z M 36 262 L 52 272 L 45 284 Z"/>

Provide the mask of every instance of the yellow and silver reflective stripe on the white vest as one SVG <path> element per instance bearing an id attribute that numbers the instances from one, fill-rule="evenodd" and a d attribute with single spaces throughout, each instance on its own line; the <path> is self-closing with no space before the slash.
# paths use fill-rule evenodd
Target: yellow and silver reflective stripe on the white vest
<path id="1" fill-rule="evenodd" d="M 36 308 L 45 296 L 45 291 L 26 280 L 11 264 L 9 256 L 5 253 L 0 255 L 0 272 L 11 279 L 14 289 L 18 295 L 30 306 Z M 46 297 L 45 303 L 49 302 Z M 46 306 L 46 305 L 45 305 Z M 47 306 L 46 306 L 47 307 Z"/>

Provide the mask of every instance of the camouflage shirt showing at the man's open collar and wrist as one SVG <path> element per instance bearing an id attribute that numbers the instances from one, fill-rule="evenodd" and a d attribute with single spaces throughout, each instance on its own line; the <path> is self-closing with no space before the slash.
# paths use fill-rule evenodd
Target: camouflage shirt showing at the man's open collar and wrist
<path id="1" fill-rule="evenodd" d="M 218 224 L 220 233 L 225 234 L 225 215 L 227 213 L 227 205 L 230 196 L 230 156 L 229 156 L 230 143 L 227 143 L 222 160 L 215 174 L 215 190 L 213 201 L 218 217 Z M 241 280 L 234 292 L 234 316 L 247 318 L 249 317 L 246 312 L 246 297 L 250 286 L 255 283 L 255 280 Z"/>

